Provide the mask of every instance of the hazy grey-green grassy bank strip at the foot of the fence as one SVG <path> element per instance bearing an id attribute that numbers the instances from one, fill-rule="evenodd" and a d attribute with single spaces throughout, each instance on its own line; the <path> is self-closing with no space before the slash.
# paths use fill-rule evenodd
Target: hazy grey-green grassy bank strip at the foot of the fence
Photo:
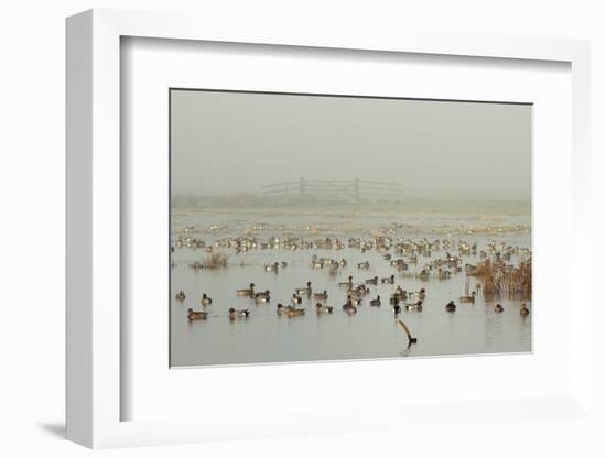
<path id="1" fill-rule="evenodd" d="M 368 211 L 403 211 L 403 212 L 466 212 L 466 214 L 500 214 L 500 215 L 530 215 L 530 201 L 505 199 L 474 198 L 425 198 L 405 197 L 400 200 L 376 199 L 359 203 L 346 200 L 314 199 L 306 196 L 304 199 L 297 195 L 267 197 L 253 194 L 234 194 L 228 196 L 209 196 L 195 194 L 176 194 L 172 198 L 173 208 L 215 209 L 215 208 L 339 208 Z"/>

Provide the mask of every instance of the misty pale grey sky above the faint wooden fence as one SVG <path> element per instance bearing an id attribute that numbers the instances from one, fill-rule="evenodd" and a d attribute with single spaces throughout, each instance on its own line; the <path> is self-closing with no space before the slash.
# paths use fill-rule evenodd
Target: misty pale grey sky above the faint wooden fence
<path id="1" fill-rule="evenodd" d="M 399 182 L 412 196 L 530 199 L 530 106 L 171 95 L 173 194 L 258 194 L 303 176 Z"/>

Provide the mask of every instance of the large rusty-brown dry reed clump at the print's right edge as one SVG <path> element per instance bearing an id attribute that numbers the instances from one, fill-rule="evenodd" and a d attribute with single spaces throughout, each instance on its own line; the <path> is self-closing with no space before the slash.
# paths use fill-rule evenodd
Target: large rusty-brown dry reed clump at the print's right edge
<path id="1" fill-rule="evenodd" d="M 532 263 L 520 262 L 507 266 L 485 260 L 473 270 L 474 276 L 481 277 L 484 294 L 516 294 L 530 298 L 532 294 Z"/>

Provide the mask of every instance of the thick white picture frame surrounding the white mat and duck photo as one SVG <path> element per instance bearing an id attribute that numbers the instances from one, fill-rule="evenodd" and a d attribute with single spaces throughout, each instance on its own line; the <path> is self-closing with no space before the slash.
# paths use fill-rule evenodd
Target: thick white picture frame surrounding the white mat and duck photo
<path id="1" fill-rule="evenodd" d="M 453 36 L 398 33 L 397 36 L 360 36 L 318 33 L 295 24 L 239 24 L 225 30 L 212 18 L 182 14 L 91 10 L 67 20 L 67 438 L 88 447 L 169 444 L 229 437 L 292 434 L 293 430 L 340 432 L 338 413 L 306 412 L 299 423 L 253 422 L 244 412 L 239 422 L 229 417 L 121 421 L 120 327 L 120 39 L 123 36 L 210 41 L 227 43 L 309 46 L 312 48 L 366 50 L 485 58 L 538 59 L 570 63 L 572 72 L 572 253 L 573 265 L 588 265 L 591 232 L 589 184 L 589 47 L 587 42 L 511 36 Z M 591 416 L 591 307 L 589 288 L 580 270 L 572 269 L 571 291 L 577 309 L 571 316 L 570 390 L 559 396 L 518 401 L 487 400 L 470 415 L 493 410 L 516 417 L 519 410 L 543 408 L 571 419 Z M 122 285 L 123 286 L 123 285 Z M 367 367 L 364 362 L 357 363 Z M 304 377 L 304 372 L 299 375 Z M 464 401 L 464 400 L 462 400 Z M 361 404 L 360 404 L 361 405 Z M 398 417 L 398 412 L 368 407 L 371 417 Z M 372 410 L 374 408 L 374 410 Z M 435 406 L 407 404 L 409 412 L 430 418 Z M 475 411 L 474 411 L 475 410 Z M 339 423 L 340 418 L 340 423 Z M 520 417 L 523 421 L 524 417 Z M 234 427 L 236 424 L 236 427 Z M 312 426 L 310 426 L 312 425 Z M 377 427 L 375 421 L 346 423 L 348 430 Z"/>

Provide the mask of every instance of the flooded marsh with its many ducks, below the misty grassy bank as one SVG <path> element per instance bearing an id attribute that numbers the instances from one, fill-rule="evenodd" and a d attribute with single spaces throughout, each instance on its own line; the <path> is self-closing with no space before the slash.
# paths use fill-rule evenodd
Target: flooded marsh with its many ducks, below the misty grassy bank
<path id="1" fill-rule="evenodd" d="M 173 209 L 171 366 L 530 351 L 530 285 L 477 269 L 530 268 L 530 233 L 528 216 Z M 251 283 L 269 297 L 237 294 Z"/>

